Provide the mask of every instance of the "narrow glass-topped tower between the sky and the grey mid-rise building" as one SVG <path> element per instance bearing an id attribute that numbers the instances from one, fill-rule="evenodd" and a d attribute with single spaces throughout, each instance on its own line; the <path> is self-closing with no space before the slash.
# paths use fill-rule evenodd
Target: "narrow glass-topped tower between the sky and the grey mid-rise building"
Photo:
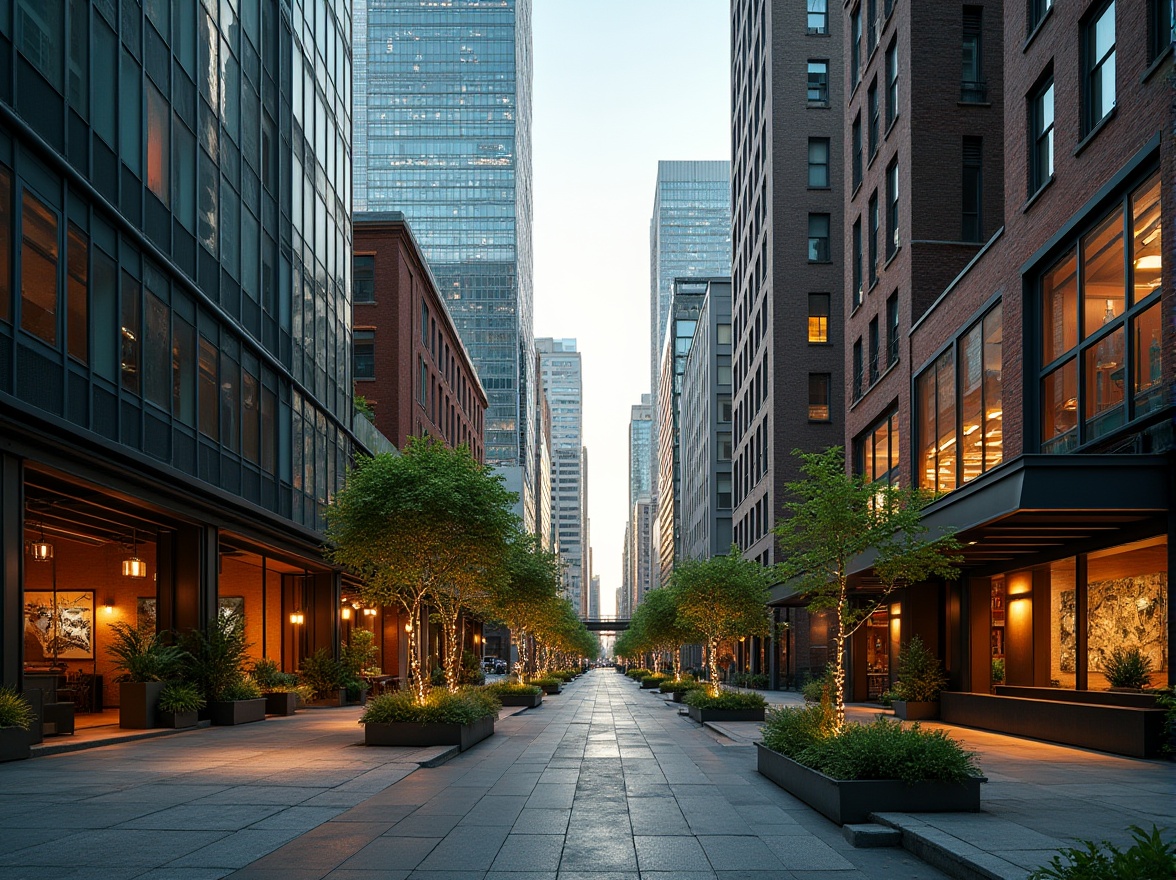
<path id="1" fill-rule="evenodd" d="M 682 558 L 681 396 L 686 355 L 702 314 L 709 279 L 674 279 L 666 341 L 662 346 L 661 391 L 657 395 L 657 502 L 654 513 L 654 586 L 669 582 Z"/>

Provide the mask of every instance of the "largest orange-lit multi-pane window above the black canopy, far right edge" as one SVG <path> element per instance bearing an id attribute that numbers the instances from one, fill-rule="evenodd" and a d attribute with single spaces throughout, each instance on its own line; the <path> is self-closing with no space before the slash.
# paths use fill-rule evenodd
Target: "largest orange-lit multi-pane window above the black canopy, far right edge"
<path id="1" fill-rule="evenodd" d="M 1042 452 L 1067 452 L 1164 405 L 1162 238 L 1157 174 L 1043 273 Z"/>

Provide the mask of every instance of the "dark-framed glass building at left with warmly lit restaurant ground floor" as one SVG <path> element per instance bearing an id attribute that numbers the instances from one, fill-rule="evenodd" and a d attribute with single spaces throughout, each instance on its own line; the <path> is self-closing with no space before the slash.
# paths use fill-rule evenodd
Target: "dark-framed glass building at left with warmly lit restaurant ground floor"
<path id="1" fill-rule="evenodd" d="M 221 608 L 254 659 L 335 651 L 350 5 L 0 15 L 0 682 L 118 702 L 111 624 Z"/>

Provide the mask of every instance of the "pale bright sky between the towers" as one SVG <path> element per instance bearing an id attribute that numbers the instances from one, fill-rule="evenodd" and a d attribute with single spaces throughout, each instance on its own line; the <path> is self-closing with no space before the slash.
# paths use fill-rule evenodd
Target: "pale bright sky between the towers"
<path id="1" fill-rule="evenodd" d="M 574 338 L 582 353 L 603 614 L 621 586 L 629 408 L 649 392 L 657 160 L 730 158 L 729 9 L 727 0 L 534 0 L 535 335 Z"/>

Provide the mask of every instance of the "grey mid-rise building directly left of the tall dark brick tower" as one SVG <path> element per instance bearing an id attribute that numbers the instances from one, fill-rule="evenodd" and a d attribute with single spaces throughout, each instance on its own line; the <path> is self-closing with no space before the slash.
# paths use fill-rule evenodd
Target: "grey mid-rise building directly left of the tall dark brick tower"
<path id="1" fill-rule="evenodd" d="M 681 558 L 731 547 L 731 286 L 711 281 L 682 374 Z"/>

